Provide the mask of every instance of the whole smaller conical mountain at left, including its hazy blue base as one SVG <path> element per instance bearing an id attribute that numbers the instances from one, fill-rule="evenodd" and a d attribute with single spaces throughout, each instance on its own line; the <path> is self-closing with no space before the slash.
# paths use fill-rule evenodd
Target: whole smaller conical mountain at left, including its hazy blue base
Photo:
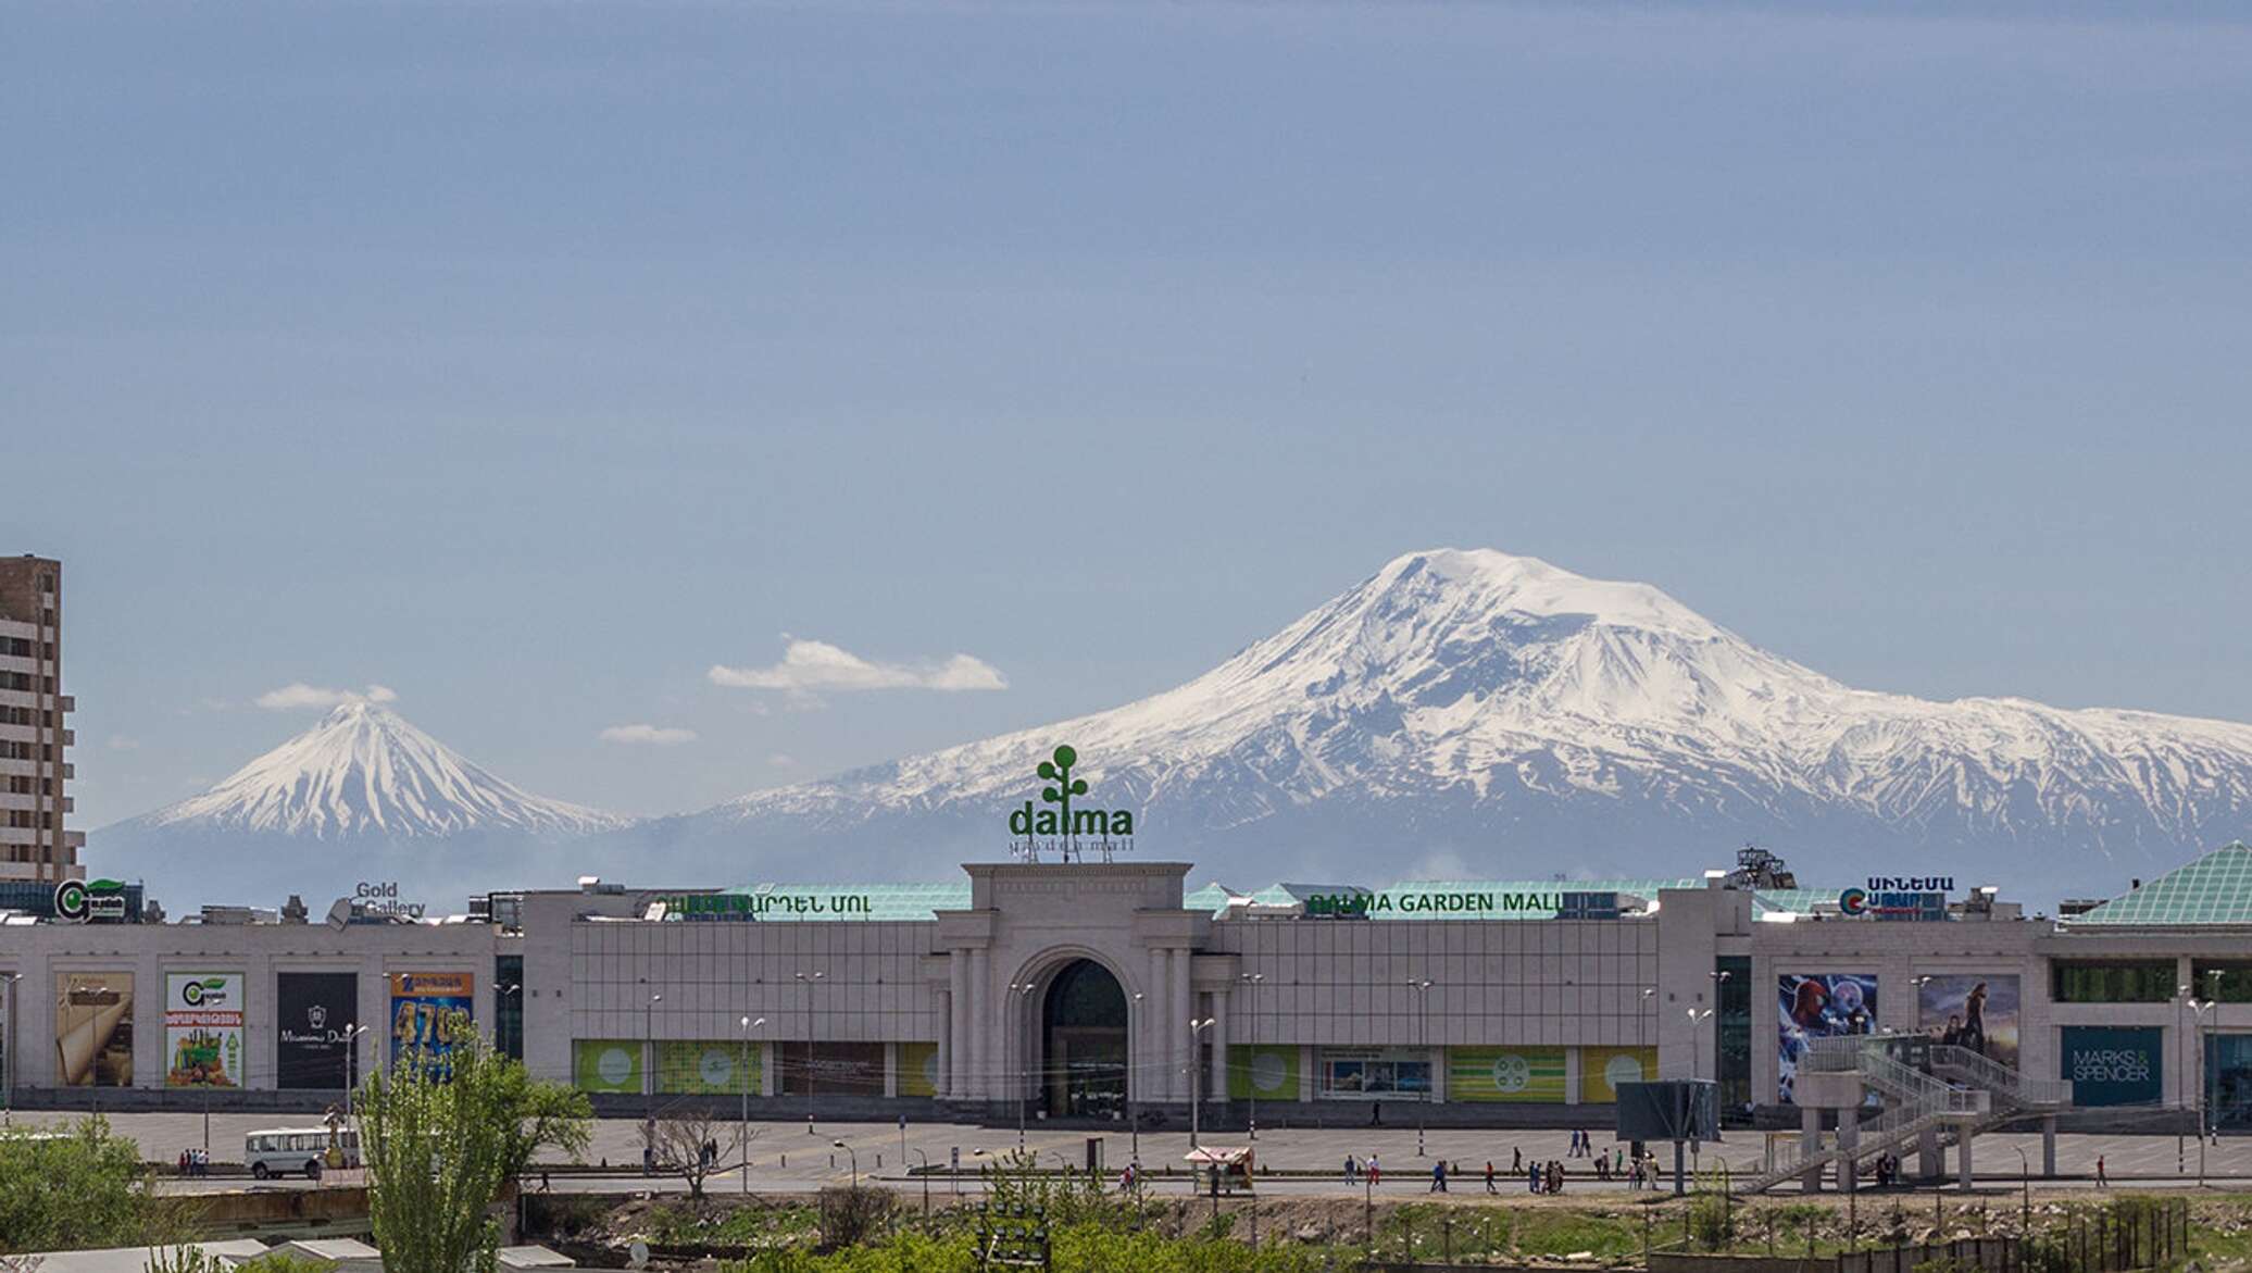
<path id="1" fill-rule="evenodd" d="M 376 703 L 345 703 L 218 786 L 88 836 L 104 872 L 167 906 L 315 910 L 356 883 L 399 883 L 435 908 L 477 888 L 561 885 L 563 845 L 626 818 L 531 795 Z"/>

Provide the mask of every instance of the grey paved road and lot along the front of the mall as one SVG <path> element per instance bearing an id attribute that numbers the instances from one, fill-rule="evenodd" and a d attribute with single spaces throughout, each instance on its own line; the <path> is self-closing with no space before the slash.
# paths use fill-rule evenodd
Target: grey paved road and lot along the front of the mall
<path id="1" fill-rule="evenodd" d="M 16 1124 L 56 1124 L 68 1122 L 72 1115 L 61 1113 L 16 1113 Z M 209 1124 L 209 1140 L 205 1140 L 205 1122 Z M 178 1158 L 180 1149 L 209 1145 L 212 1158 L 216 1163 L 239 1163 L 243 1156 L 243 1133 L 277 1124 L 302 1124 L 309 1120 L 293 1120 L 275 1115 L 212 1115 L 205 1120 L 198 1113 L 122 1113 L 110 1118 L 110 1127 L 119 1136 L 128 1136 L 140 1142 L 142 1156 L 171 1163 Z M 1590 1129 L 1597 1142 L 1608 1147 L 1603 1131 Z M 718 1140 L 721 1156 L 727 1163 L 736 1160 L 736 1133 L 734 1122 L 714 1122 L 709 1136 Z M 903 1165 L 919 1167 L 926 1160 L 935 1167 L 944 1167 L 959 1154 L 962 1163 L 962 1190 L 973 1192 L 977 1187 L 975 1172 L 982 1163 L 998 1156 L 1011 1154 L 1018 1147 L 1018 1131 L 1013 1127 L 971 1127 L 971 1124 L 908 1124 L 905 1131 L 899 1124 L 869 1124 L 869 1122 L 817 1122 L 813 1131 L 806 1131 L 804 1122 L 752 1122 L 750 1133 L 750 1190 L 761 1194 L 786 1194 L 786 1192 L 811 1192 L 822 1185 L 849 1181 L 854 1167 L 858 1165 L 860 1176 L 881 1178 L 885 1183 L 903 1183 L 905 1187 L 919 1187 L 919 1181 L 908 1181 Z M 1124 1131 L 1090 1133 L 1090 1131 L 1058 1131 L 1045 1127 L 1029 1127 L 1025 1131 L 1025 1147 L 1040 1156 L 1043 1167 L 1083 1167 L 1085 1165 L 1085 1142 L 1088 1138 L 1103 1142 L 1103 1165 L 1108 1176 L 1128 1163 L 1135 1151 L 1135 1138 Z M 1398 1196 L 1405 1192 L 1423 1192 L 1430 1187 L 1430 1165 L 1432 1158 L 1444 1156 L 1453 1165 L 1459 1165 L 1462 1176 L 1453 1183 L 1459 1190 L 1484 1192 L 1482 1172 L 1491 1158 L 1498 1169 L 1509 1167 L 1511 1151 L 1522 1151 L 1527 1160 L 1563 1158 L 1570 1145 L 1570 1131 L 1468 1131 L 1468 1129 L 1432 1129 L 1430 1133 L 1419 1133 L 1414 1127 L 1362 1127 L 1362 1129 L 1266 1129 L 1257 1140 L 1248 1140 L 1245 1133 L 1209 1133 L 1203 1138 L 1205 1145 L 1254 1145 L 1259 1151 L 1259 1163 L 1277 1172 L 1315 1172 L 1315 1178 L 1275 1178 L 1261 1181 L 1263 1194 L 1351 1194 L 1360 1196 L 1362 1185 L 1344 1183 L 1344 1156 L 1369 1158 L 1371 1154 L 1383 1165 L 1380 1194 Z M 1727 1163 L 1734 1174 L 1748 1174 L 1763 1158 L 1763 1133 L 1743 1131 L 1730 1133 L 1723 1145 L 1707 1145 L 1698 1154 L 1696 1165 L 1714 1169 L 1718 1163 Z M 838 1145 L 842 1142 L 842 1147 Z M 1421 1142 L 1421 1145 L 1419 1145 Z M 905 1145 L 905 1156 L 901 1154 Z M 1142 1133 L 1140 1158 L 1146 1169 L 1153 1172 L 1153 1181 L 1160 1190 L 1187 1190 L 1187 1178 L 1178 1174 L 1182 1154 L 1189 1149 L 1189 1138 L 1182 1131 Z M 1421 1151 L 1419 1151 L 1421 1149 Z M 1991 1133 L 1975 1140 L 1973 1163 L 1977 1169 L 1977 1181 L 1982 1187 L 2007 1187 L 2020 1181 L 2020 1156 L 2025 1151 L 2025 1163 L 2040 1172 L 2040 1136 L 2027 1133 Z M 1671 1163 L 1671 1156 L 1660 1149 L 1662 1158 Z M 2135 1185 L 2184 1185 L 2196 1183 L 2198 1174 L 2198 1142 L 2187 1140 L 2180 1145 L 2173 1136 L 2058 1136 L 2056 1138 L 2056 1167 L 2061 1181 L 2067 1183 L 2092 1183 L 2097 1158 L 2103 1158 L 2106 1174 L 2119 1183 Z M 637 1120 L 601 1120 L 595 1124 L 595 1138 L 588 1149 L 586 1160 L 590 1165 L 608 1165 L 613 1172 L 570 1172 L 549 1176 L 549 1187 L 554 1192 L 637 1192 L 658 1190 L 671 1192 L 680 1190 L 678 1178 L 649 1178 L 640 1174 L 642 1163 L 642 1133 Z M 1167 1163 L 1176 1165 L 1176 1176 L 1167 1181 L 1162 1167 Z M 1912 1163 L 1912 1156 L 1910 1156 Z M 1588 1190 L 1624 1190 L 1619 1183 L 1599 1183 L 1585 1174 L 1588 1163 L 1565 1158 L 1567 1167 L 1576 1172 L 1565 1192 L 1588 1192 Z M 1948 1156 L 1948 1169 L 1952 1174 L 1955 1158 Z M 2223 1138 L 2205 1147 L 2205 1174 L 2209 1181 L 2234 1183 L 2238 1187 L 2252 1185 L 2252 1138 Z M 209 1190 L 209 1187 L 243 1187 L 248 1181 L 241 1178 L 203 1178 L 203 1181 L 173 1181 L 167 1187 L 178 1190 Z M 277 1187 L 304 1187 L 302 1181 L 277 1183 Z M 741 1172 L 727 1169 L 714 1174 L 707 1183 L 714 1192 L 736 1192 L 743 1187 Z M 1498 1183 L 1502 1194 L 1509 1194 L 1509 1181 Z M 1522 1192 L 1522 1181 L 1516 1183 Z M 950 1192 L 953 1183 L 939 1174 L 932 1178 L 932 1194 Z"/>

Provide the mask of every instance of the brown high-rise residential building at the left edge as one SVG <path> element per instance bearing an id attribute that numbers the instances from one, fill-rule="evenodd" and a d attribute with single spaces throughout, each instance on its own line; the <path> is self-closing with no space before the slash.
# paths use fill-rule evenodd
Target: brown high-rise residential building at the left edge
<path id="1" fill-rule="evenodd" d="M 70 813 L 63 719 L 63 563 L 0 557 L 0 881 L 86 879 Z"/>

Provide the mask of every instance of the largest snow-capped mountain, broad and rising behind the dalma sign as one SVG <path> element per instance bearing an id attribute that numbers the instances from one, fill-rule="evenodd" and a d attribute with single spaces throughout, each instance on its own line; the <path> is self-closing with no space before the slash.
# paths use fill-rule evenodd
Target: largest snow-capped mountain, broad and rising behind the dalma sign
<path id="1" fill-rule="evenodd" d="M 1851 689 L 1646 584 L 1435 550 L 1153 698 L 653 834 L 741 879 L 944 876 L 1056 744 L 1142 856 L 1245 881 L 1689 874 L 1754 838 L 1822 879 L 2115 892 L 2252 825 L 2252 725 Z"/>

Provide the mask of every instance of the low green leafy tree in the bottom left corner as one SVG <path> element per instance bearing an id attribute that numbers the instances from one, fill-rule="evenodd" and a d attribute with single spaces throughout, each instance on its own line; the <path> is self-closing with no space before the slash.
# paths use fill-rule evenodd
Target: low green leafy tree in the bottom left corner
<path id="1" fill-rule="evenodd" d="M 0 1253 L 140 1246 L 178 1217 L 149 1190 L 140 1147 L 101 1115 L 56 1136 L 0 1129 Z"/>

